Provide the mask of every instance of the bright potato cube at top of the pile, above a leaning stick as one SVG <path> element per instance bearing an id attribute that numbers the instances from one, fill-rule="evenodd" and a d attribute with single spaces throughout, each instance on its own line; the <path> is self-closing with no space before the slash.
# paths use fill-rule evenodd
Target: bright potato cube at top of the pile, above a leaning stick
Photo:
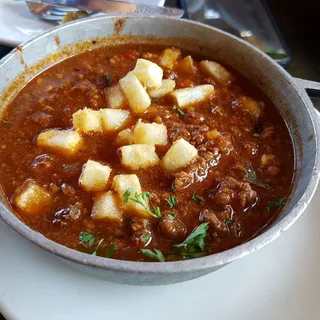
<path id="1" fill-rule="evenodd" d="M 163 70 L 154 62 L 138 59 L 133 72 L 145 87 L 156 89 L 161 87 Z"/>

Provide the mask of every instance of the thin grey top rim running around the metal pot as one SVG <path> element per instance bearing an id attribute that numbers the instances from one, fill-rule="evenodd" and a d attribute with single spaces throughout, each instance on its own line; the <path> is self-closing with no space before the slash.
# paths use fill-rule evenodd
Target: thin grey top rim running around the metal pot
<path id="1" fill-rule="evenodd" d="M 255 51 L 256 54 L 258 54 L 261 59 L 268 60 L 270 64 L 273 65 L 273 67 L 277 68 L 278 71 L 281 73 L 281 75 L 287 80 L 288 83 L 292 86 L 293 90 L 297 91 L 296 83 L 293 81 L 293 78 L 284 70 L 282 67 L 280 67 L 275 61 L 273 61 L 269 56 L 267 56 L 264 52 L 260 51 L 253 45 L 251 45 L 248 42 L 245 42 L 242 39 L 237 38 L 236 36 L 230 35 L 222 30 L 219 30 L 217 28 L 191 21 L 191 20 L 183 20 L 179 18 L 172 18 L 172 17 L 165 17 L 165 16 L 141 16 L 141 15 L 110 15 L 110 16 L 102 16 L 102 17 L 93 17 L 83 20 L 76 20 L 73 22 L 69 22 L 67 24 L 52 28 L 41 35 L 37 36 L 34 39 L 31 39 L 25 43 L 23 43 L 20 48 L 23 50 L 25 47 L 31 45 L 33 42 L 37 41 L 41 37 L 46 37 L 49 35 L 52 35 L 52 32 L 55 32 L 57 30 L 62 30 L 65 28 L 69 28 L 71 25 L 79 25 L 79 24 L 90 24 L 90 21 L 92 20 L 105 20 L 105 19 L 117 19 L 117 18 L 125 18 L 125 19 L 162 19 L 162 20 L 179 20 L 181 23 L 191 24 L 191 25 L 198 25 L 204 28 L 211 29 L 215 31 L 216 33 L 223 34 L 226 37 L 232 38 L 234 41 L 238 43 L 242 43 L 242 45 L 247 46 L 251 48 L 253 51 Z M 10 57 L 17 54 L 17 50 L 13 50 L 11 53 L 9 53 L 6 57 L 4 57 L 0 61 L 0 68 L 6 63 Z M 315 126 L 314 118 L 312 116 L 313 114 L 313 106 L 311 104 L 311 101 L 308 101 L 308 99 L 305 99 L 305 97 L 301 97 L 301 101 L 303 105 L 307 108 L 308 113 L 310 115 L 313 130 L 314 130 L 314 137 L 316 139 L 315 143 L 318 146 L 318 137 L 319 137 L 319 130 Z M 319 149 L 316 150 L 316 159 L 315 164 L 313 166 L 313 175 L 309 181 L 309 184 L 303 194 L 303 196 L 300 198 L 300 200 L 296 203 L 294 208 L 281 220 L 279 220 L 274 226 L 270 227 L 266 231 L 264 231 L 262 234 L 258 235 L 257 237 L 251 239 L 248 242 L 245 242 L 239 246 L 236 246 L 234 248 L 215 253 L 212 255 L 208 255 L 201 258 L 191 259 L 191 260 L 183 260 L 183 261 L 168 261 L 164 263 L 160 262 L 136 262 L 136 261 L 127 261 L 127 260 L 116 260 L 116 259 L 109 259 L 109 258 L 103 258 L 99 256 L 91 256 L 89 254 L 85 254 L 79 251 L 76 251 L 74 249 L 67 248 L 63 245 L 60 245 L 52 240 L 49 240 L 42 234 L 38 233 L 37 231 L 32 230 L 27 225 L 25 225 L 15 214 L 10 212 L 1 202 L 0 202 L 0 217 L 8 224 L 10 225 L 14 230 L 16 230 L 20 235 L 22 235 L 24 238 L 28 239 L 32 243 L 36 244 L 37 246 L 41 247 L 42 249 L 57 255 L 61 258 L 70 260 L 72 262 L 75 262 L 77 264 L 82 264 L 86 266 L 90 266 L 93 268 L 99 268 L 99 269 L 108 269 L 111 271 L 121 271 L 121 272 L 127 272 L 127 273 L 143 273 L 143 274 L 177 274 L 177 273 L 187 273 L 190 271 L 195 270 L 205 270 L 209 268 L 219 267 L 225 264 L 228 264 L 236 259 L 239 259 L 241 257 L 246 256 L 249 253 L 252 253 L 269 242 L 276 239 L 281 233 L 283 233 L 285 230 L 287 230 L 303 213 L 309 202 L 311 201 L 311 198 L 316 190 L 317 184 L 319 182 L 319 174 L 318 174 L 318 168 L 319 168 Z"/>

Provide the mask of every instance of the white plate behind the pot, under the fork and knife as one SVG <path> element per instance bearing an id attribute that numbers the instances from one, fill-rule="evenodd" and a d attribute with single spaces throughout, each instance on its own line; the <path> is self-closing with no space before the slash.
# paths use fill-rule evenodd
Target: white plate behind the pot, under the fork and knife
<path id="1" fill-rule="evenodd" d="M 131 2 L 163 6 L 165 0 Z M 23 1 L 0 0 L 0 44 L 15 47 L 54 26 L 33 16 Z"/>

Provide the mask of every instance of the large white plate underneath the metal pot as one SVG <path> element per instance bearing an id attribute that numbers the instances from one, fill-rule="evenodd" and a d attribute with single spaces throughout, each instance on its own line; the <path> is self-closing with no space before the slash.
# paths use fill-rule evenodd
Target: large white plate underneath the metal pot
<path id="1" fill-rule="evenodd" d="M 280 238 L 190 282 L 135 287 L 74 271 L 0 221 L 0 312 L 8 320 L 319 320 L 320 188 Z"/>

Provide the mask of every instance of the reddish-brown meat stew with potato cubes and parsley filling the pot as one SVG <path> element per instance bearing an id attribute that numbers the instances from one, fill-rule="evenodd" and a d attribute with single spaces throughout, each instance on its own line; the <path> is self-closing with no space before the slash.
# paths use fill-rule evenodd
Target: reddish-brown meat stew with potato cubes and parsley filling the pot
<path id="1" fill-rule="evenodd" d="M 243 76 L 179 48 L 102 47 L 43 71 L 0 126 L 14 212 L 64 246 L 172 261 L 256 236 L 291 189 L 285 122 Z"/>

